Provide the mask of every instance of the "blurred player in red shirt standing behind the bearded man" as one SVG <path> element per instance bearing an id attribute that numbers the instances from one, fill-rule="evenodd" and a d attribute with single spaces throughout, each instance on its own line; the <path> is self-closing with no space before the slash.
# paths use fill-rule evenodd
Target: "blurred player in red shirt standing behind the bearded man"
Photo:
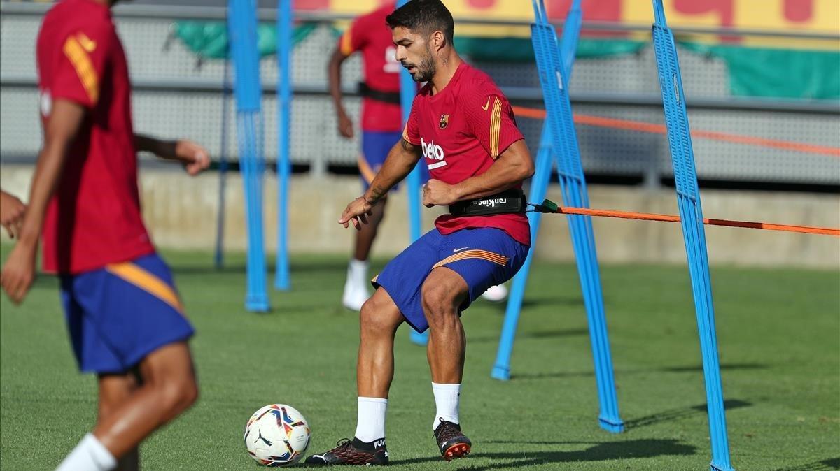
<path id="1" fill-rule="evenodd" d="M 359 84 L 362 96 L 361 111 L 361 153 L 359 172 L 364 189 L 385 163 L 388 151 L 402 138 L 402 106 L 400 106 L 400 63 L 396 61 L 396 48 L 391 38 L 391 29 L 386 17 L 396 9 L 396 2 L 386 3 L 371 13 L 356 18 L 347 31 L 341 35 L 339 44 L 329 60 L 329 93 L 333 96 L 339 134 L 348 139 L 354 137 L 353 120 L 342 103 L 341 65 L 344 60 L 360 52 L 364 81 Z M 421 168 L 423 181 L 428 171 Z M 395 185 L 392 189 L 397 189 Z M 370 298 L 368 283 L 368 258 L 376 238 L 379 225 L 385 216 L 387 195 L 376 204 L 368 216 L 368 224 L 356 234 L 353 258 L 347 267 L 347 281 L 344 282 L 342 304 L 345 308 L 359 311 Z M 483 297 L 490 301 L 501 301 L 507 297 L 504 285 L 487 288 Z"/>

